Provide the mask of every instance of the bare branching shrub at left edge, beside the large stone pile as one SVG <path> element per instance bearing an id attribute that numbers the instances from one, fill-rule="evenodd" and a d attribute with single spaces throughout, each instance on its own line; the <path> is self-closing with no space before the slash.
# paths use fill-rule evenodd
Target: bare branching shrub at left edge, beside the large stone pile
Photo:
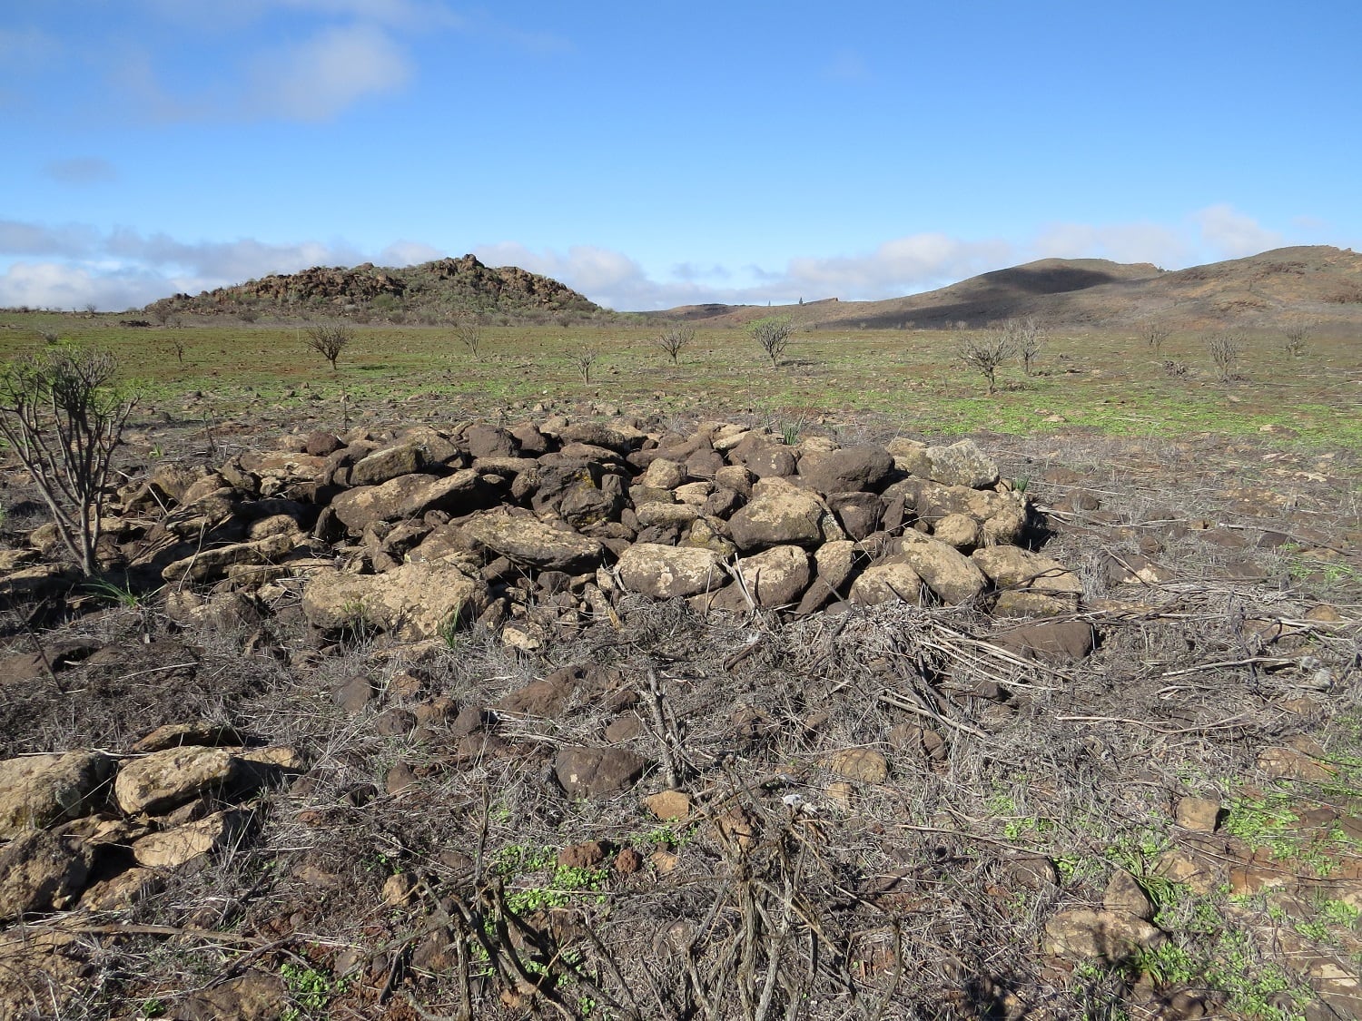
<path id="1" fill-rule="evenodd" d="M 135 403 L 112 387 L 117 368 L 112 354 L 63 346 L 0 372 L 0 434 L 87 576 L 98 570 L 109 461 Z"/>

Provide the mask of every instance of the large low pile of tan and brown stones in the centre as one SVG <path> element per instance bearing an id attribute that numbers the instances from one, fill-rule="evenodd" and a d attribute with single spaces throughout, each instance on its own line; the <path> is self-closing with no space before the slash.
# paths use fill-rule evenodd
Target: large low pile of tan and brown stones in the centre
<path id="1" fill-rule="evenodd" d="M 193 591 L 215 585 L 301 595 L 324 630 L 422 638 L 479 621 L 524 648 L 625 592 L 706 611 L 903 600 L 1005 617 L 1072 611 L 1081 594 L 1027 549 L 1034 510 L 968 440 L 838 447 L 558 418 L 285 447 L 159 467 L 121 493 L 108 553 L 172 583 L 181 614 L 214 611 Z"/>

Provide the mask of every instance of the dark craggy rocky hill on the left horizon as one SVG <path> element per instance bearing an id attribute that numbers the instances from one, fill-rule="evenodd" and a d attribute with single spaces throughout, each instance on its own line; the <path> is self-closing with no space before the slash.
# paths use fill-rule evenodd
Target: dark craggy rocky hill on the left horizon
<path id="1" fill-rule="evenodd" d="M 353 268 L 317 265 L 199 295 L 176 294 L 146 310 L 159 319 L 183 313 L 244 319 L 326 314 L 394 323 L 448 321 L 467 314 L 535 320 L 603 312 L 554 279 L 515 265 L 488 267 L 471 255 L 399 270 L 373 263 Z"/>

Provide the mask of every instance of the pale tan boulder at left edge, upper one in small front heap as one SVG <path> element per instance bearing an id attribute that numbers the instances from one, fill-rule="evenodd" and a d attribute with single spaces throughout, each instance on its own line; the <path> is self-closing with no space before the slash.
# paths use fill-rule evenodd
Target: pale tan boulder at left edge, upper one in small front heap
<path id="1" fill-rule="evenodd" d="M 0 840 L 84 815 L 113 775 L 102 751 L 26 756 L 0 762 Z"/>

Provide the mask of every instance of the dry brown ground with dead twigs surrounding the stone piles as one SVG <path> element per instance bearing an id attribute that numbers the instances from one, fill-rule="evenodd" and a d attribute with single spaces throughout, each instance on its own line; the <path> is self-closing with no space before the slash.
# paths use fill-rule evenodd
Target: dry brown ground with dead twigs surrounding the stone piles
<path id="1" fill-rule="evenodd" d="M 143 426 L 129 474 L 271 440 Z M 11 602 L 0 756 L 208 720 L 306 768 L 230 851 L 0 933 L 0 1013 L 1362 1016 L 1357 452 L 975 438 L 1081 577 L 1050 623 L 1091 652 L 970 606 L 625 596 L 524 652 L 335 641 L 287 599 L 191 621 L 131 583 Z M 42 519 L 4 483 L 18 547 Z M 564 751 L 606 745 L 637 784 L 565 792 Z"/>

